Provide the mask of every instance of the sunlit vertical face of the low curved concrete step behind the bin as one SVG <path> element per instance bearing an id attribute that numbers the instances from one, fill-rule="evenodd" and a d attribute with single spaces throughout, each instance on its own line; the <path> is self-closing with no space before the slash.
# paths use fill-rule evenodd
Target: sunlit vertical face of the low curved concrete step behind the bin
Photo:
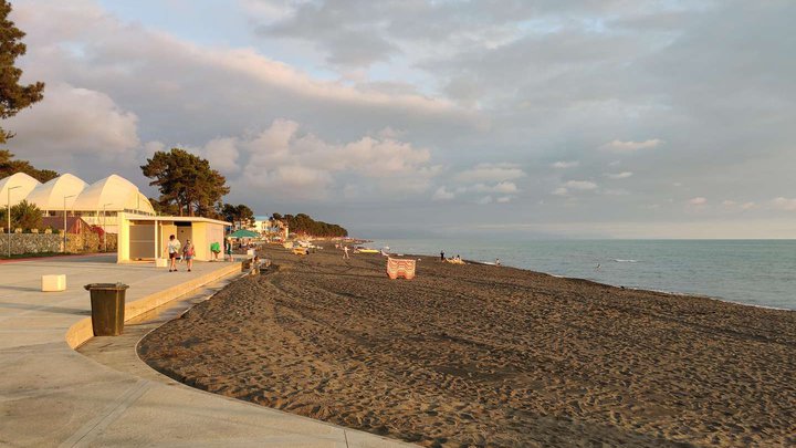
<path id="1" fill-rule="evenodd" d="M 188 294 L 189 292 L 206 284 L 212 283 L 216 280 L 240 272 L 240 263 L 232 263 L 223 269 L 217 269 L 212 272 L 208 272 L 187 282 L 167 288 L 154 294 L 149 294 L 134 302 L 125 303 L 125 322 L 151 311 L 164 303 L 168 303 L 181 295 Z M 69 344 L 72 350 L 77 348 L 86 341 L 94 337 L 91 317 L 82 319 L 74 325 L 70 326 L 64 337 L 66 340 L 66 344 Z"/>

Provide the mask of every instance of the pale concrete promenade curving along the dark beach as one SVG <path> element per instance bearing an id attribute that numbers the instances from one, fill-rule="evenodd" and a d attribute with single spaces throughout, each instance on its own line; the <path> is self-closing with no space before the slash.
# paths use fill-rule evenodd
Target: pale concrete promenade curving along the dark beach
<path id="1" fill-rule="evenodd" d="M 145 377 L 118 372 L 75 352 L 91 337 L 84 284 L 130 285 L 130 319 L 240 269 L 206 262 L 190 273 L 185 265 L 170 273 L 114 261 L 0 264 L 0 446 L 407 446 L 197 390 L 154 371 Z M 66 274 L 67 290 L 41 292 L 41 275 L 49 273 Z"/>

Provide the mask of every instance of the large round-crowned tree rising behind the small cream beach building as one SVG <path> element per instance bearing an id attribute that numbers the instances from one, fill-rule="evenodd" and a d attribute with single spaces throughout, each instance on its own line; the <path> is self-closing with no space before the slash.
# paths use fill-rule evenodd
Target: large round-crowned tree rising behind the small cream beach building
<path id="1" fill-rule="evenodd" d="M 212 210 L 230 191 L 227 179 L 210 168 L 208 160 L 185 149 L 159 150 L 140 168 L 144 176 L 154 179 L 149 185 L 160 189 L 160 206 L 175 204 L 180 216 Z"/>

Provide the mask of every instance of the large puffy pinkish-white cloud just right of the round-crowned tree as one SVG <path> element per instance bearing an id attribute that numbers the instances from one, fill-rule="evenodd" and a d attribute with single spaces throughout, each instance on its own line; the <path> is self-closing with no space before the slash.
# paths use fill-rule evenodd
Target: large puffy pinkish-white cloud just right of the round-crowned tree
<path id="1" fill-rule="evenodd" d="M 332 197 L 342 184 L 338 179 L 348 183 L 344 187 L 349 189 L 348 197 L 354 196 L 352 179 L 375 181 L 375 186 L 363 186 L 359 197 L 378 194 L 385 199 L 421 194 L 441 170 L 429 164 L 428 149 L 408 143 L 367 136 L 345 144 L 328 143 L 313 134 L 302 134 L 298 123 L 287 119 L 275 121 L 249 139 L 214 139 L 205 147 L 242 150 L 240 158 L 248 160 L 242 167 L 241 187 L 264 188 L 269 195 L 286 198 Z M 228 162 L 234 158 L 234 154 L 227 156 Z"/>

